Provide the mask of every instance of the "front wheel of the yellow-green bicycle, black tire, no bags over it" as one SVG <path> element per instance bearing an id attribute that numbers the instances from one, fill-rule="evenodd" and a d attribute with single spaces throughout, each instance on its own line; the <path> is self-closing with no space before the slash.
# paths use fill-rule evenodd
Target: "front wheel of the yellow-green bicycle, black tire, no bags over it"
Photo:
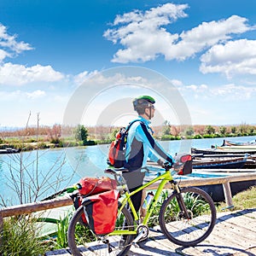
<path id="1" fill-rule="evenodd" d="M 183 247 L 204 241 L 215 221 L 216 208 L 211 196 L 195 187 L 183 188 L 180 194 L 174 191 L 160 208 L 161 230 L 170 241 Z"/>

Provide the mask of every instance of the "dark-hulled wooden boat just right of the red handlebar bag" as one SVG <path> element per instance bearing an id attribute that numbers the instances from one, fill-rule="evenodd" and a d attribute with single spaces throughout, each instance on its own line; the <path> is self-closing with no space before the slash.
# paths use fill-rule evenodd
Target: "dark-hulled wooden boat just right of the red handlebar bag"
<path id="1" fill-rule="evenodd" d="M 236 169 L 243 168 L 247 162 L 247 154 L 243 157 L 195 157 L 193 169 Z"/>

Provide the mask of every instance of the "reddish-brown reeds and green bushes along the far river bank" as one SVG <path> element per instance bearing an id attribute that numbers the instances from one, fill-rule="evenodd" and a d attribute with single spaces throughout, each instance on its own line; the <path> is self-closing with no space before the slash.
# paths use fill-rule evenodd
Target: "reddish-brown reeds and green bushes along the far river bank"
<path id="1" fill-rule="evenodd" d="M 53 125 L 26 127 L 24 129 L 5 129 L 0 131 L 0 148 L 67 147 L 110 143 L 120 127 L 84 125 Z M 163 125 L 153 127 L 154 137 L 158 140 L 200 139 L 213 137 L 240 137 L 256 135 L 256 125 Z"/>

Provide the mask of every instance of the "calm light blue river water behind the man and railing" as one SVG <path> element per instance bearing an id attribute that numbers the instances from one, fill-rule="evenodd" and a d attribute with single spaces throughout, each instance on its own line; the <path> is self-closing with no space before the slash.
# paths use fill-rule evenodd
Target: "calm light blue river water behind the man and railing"
<path id="1" fill-rule="evenodd" d="M 198 139 L 160 142 L 170 154 L 186 152 L 191 147 L 211 148 L 222 145 L 225 138 Z M 255 137 L 227 138 L 234 142 L 250 142 Z M 26 199 L 31 201 L 39 189 L 38 199 L 52 195 L 79 181 L 81 177 L 102 177 L 108 167 L 106 159 L 109 145 L 96 145 L 85 148 L 44 149 L 20 154 L 0 154 L 1 197 L 7 205 L 18 204 L 17 190 L 20 190 L 20 175 L 25 181 L 22 189 Z M 0 202 L 1 203 L 1 202 Z"/>

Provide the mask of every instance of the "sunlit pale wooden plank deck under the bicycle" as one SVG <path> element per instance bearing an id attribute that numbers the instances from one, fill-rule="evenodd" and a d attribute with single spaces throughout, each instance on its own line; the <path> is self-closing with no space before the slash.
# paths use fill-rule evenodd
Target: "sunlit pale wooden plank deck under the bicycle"
<path id="1" fill-rule="evenodd" d="M 83 250 L 83 248 L 82 248 Z M 84 250 L 83 250 L 84 251 Z M 70 256 L 67 249 L 46 253 L 45 256 Z M 85 252 L 84 255 L 102 255 Z M 132 246 L 128 255 L 223 255 L 255 256 L 256 255 L 256 208 L 217 214 L 217 223 L 207 240 L 196 247 L 179 247 L 168 241 L 158 227 L 150 230 L 147 241 Z"/>

